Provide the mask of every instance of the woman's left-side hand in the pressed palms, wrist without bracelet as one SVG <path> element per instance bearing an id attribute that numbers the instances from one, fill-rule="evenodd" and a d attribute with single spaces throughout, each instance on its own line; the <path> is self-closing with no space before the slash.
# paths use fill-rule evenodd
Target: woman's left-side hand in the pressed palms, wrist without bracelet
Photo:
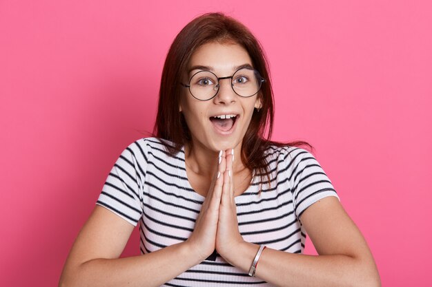
<path id="1" fill-rule="evenodd" d="M 225 154 L 223 151 L 219 152 L 217 171 L 195 221 L 194 231 L 186 240 L 186 243 L 192 246 L 191 249 L 197 251 L 199 261 L 206 259 L 215 251 L 219 206 L 224 186 L 224 171 L 226 170 Z"/>

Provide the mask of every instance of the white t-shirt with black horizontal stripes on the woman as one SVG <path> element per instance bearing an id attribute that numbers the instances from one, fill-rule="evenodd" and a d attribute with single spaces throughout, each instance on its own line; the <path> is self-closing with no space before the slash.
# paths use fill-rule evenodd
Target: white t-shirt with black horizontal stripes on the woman
<path id="1" fill-rule="evenodd" d="M 320 164 L 298 147 L 266 151 L 271 182 L 260 176 L 235 198 L 239 231 L 246 242 L 302 253 L 306 233 L 300 215 L 314 202 L 337 194 Z M 261 188 L 261 192 L 259 192 Z M 172 157 L 157 138 L 129 145 L 110 171 L 97 204 L 140 228 L 141 254 L 184 242 L 192 233 L 204 197 L 188 181 L 184 149 Z M 217 255 L 164 286 L 271 286 Z"/>

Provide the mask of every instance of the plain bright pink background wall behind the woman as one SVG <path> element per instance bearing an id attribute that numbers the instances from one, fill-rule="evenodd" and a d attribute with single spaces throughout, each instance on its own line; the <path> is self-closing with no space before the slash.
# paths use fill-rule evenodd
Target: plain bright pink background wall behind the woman
<path id="1" fill-rule="evenodd" d="M 383 286 L 432 286 L 430 1 L 152 2 L 0 1 L 0 285 L 57 284 L 112 164 L 153 128 L 171 41 L 223 11 L 268 54 L 273 139 L 314 145 Z"/>

